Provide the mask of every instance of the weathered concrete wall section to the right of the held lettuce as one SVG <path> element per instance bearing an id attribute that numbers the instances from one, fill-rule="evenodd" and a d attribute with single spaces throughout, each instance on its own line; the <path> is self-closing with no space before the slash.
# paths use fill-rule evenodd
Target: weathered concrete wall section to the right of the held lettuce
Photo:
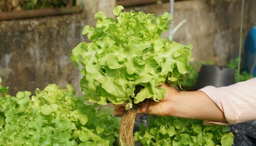
<path id="1" fill-rule="evenodd" d="M 256 25 L 256 1 L 245 0 L 242 46 L 246 34 Z M 128 7 L 125 11 L 151 14 L 169 12 L 169 3 Z M 174 3 L 173 25 L 185 22 L 173 35 L 176 42 L 191 44 L 195 61 L 211 61 L 225 65 L 238 56 L 241 0 L 187 0 Z M 168 36 L 169 32 L 163 34 Z M 242 48 L 243 49 L 243 48 Z"/>

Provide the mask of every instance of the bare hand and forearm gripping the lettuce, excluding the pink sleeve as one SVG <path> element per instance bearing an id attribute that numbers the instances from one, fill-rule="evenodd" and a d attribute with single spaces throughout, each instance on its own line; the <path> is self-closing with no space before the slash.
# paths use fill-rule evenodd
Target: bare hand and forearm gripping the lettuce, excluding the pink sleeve
<path id="1" fill-rule="evenodd" d="M 167 89 L 165 97 L 158 102 L 152 99 L 142 101 L 137 113 L 226 121 L 223 112 L 204 92 L 178 91 L 168 84 L 162 84 L 159 87 Z M 119 110 L 125 111 L 125 108 L 121 106 Z"/>

